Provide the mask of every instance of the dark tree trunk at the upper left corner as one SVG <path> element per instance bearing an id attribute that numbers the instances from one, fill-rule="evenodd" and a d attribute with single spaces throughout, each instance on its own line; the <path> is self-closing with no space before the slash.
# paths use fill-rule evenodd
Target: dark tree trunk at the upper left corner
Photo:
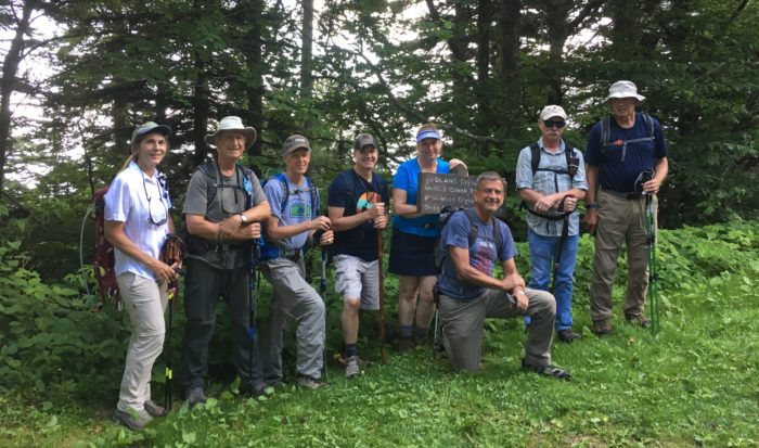
<path id="1" fill-rule="evenodd" d="M 16 25 L 16 34 L 2 65 L 2 80 L 0 80 L 0 192 L 3 191 L 5 184 L 5 163 L 13 149 L 11 141 L 11 95 L 16 82 L 18 64 L 24 59 L 24 35 L 29 29 L 29 20 L 36 5 L 37 2 L 34 0 L 24 2 L 21 21 Z"/>

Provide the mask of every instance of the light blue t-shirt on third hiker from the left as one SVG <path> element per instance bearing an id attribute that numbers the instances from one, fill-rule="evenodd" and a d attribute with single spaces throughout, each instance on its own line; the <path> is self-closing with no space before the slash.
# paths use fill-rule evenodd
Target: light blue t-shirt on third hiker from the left
<path id="1" fill-rule="evenodd" d="M 287 177 L 285 176 L 285 179 Z M 312 219 L 311 190 L 316 188 L 311 182 L 304 178 L 301 184 L 296 185 L 287 181 L 290 195 L 287 203 L 282 208 L 282 200 L 284 199 L 283 184 L 275 178 L 269 179 L 263 185 L 267 201 L 271 207 L 271 216 L 279 219 L 280 226 L 295 226 L 300 222 L 310 221 Z M 317 191 L 317 194 L 319 192 Z M 279 240 L 275 245 L 283 249 L 299 249 L 306 245 L 308 241 L 308 231 L 300 232 L 296 235 Z"/>

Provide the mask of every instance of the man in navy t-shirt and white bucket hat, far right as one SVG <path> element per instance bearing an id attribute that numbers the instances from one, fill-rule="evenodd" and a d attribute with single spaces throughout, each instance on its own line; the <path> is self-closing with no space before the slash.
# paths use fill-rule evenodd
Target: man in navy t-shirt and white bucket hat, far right
<path id="1" fill-rule="evenodd" d="M 653 195 L 656 209 L 655 194 L 669 165 L 661 125 L 635 112 L 643 100 L 634 84 L 613 84 L 606 99 L 612 116 L 596 123 L 588 138 L 584 221 L 595 234 L 590 312 L 599 336 L 612 333 L 612 289 L 622 243 L 627 244 L 629 267 L 625 318 L 643 328 L 651 325 L 643 317 L 648 289 L 645 195 Z"/>

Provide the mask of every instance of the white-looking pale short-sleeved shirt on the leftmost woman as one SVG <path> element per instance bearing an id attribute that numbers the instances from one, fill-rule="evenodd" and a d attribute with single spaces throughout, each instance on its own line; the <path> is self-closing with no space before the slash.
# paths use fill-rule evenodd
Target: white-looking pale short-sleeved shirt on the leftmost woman
<path id="1" fill-rule="evenodd" d="M 143 183 L 144 181 L 144 183 Z M 150 208 L 149 201 L 150 197 Z M 160 226 L 151 221 L 160 222 L 168 218 L 171 209 L 168 187 L 163 175 L 156 169 L 153 177 L 147 177 L 142 169 L 131 162 L 129 166 L 119 172 L 111 182 L 108 192 L 105 193 L 106 221 L 124 222 L 124 233 L 140 251 L 153 258 L 158 258 L 160 247 L 169 234 L 168 220 Z M 119 276 L 124 272 L 133 272 L 136 276 L 155 280 L 153 271 L 142 263 L 123 253 L 118 248 L 114 251 L 114 272 Z"/>

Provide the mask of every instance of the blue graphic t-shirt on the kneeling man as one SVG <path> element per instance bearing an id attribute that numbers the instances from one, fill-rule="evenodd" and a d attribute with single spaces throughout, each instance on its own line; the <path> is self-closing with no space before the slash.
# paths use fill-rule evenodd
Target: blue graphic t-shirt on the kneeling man
<path id="1" fill-rule="evenodd" d="M 492 218 L 491 223 L 483 222 L 479 217 L 475 217 L 477 226 L 477 236 L 469 245 L 469 231 L 472 223 L 464 212 L 451 215 L 448 223 L 442 229 L 440 235 L 440 247 L 448 252 L 450 246 L 467 248 L 469 251 L 469 266 L 478 271 L 492 277 L 496 268 L 496 259 L 505 261 L 516 256 L 516 246 L 509 226 L 503 221 Z M 496 239 L 493 236 L 493 226 L 499 226 L 502 239 L 501 253 L 496 254 Z M 442 264 L 442 272 L 437 278 L 437 285 L 440 294 L 459 299 L 472 299 L 480 296 L 485 287 L 462 282 L 456 279 L 455 268 L 450 255 Z"/>

